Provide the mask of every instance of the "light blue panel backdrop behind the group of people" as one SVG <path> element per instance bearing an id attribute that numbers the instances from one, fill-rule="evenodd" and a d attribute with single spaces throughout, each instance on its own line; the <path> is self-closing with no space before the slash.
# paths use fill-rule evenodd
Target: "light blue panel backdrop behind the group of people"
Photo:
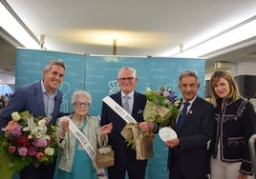
<path id="1" fill-rule="evenodd" d="M 88 90 L 93 96 L 92 115 L 100 115 L 102 98 L 119 90 L 117 70 L 124 66 L 137 70 L 139 78 L 136 90 L 144 93 L 146 87 L 153 90 L 165 85 L 173 89 L 178 96 L 178 77 L 181 70 L 197 70 L 202 88 L 199 95 L 204 97 L 204 66 L 202 59 L 160 58 L 160 57 L 121 57 L 90 56 L 77 53 L 66 53 L 47 50 L 17 50 L 15 89 L 42 79 L 45 64 L 53 59 L 65 62 L 66 74 L 59 88 L 63 92 L 61 109 L 71 111 L 71 96 L 77 89 Z M 167 179 L 166 169 L 168 149 L 158 134 L 154 143 L 154 158 L 149 159 L 147 179 Z"/>

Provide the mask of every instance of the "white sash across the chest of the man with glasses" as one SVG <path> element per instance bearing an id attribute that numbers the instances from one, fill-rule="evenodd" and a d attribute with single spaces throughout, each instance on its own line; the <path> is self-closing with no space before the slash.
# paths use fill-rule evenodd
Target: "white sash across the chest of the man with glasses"
<path id="1" fill-rule="evenodd" d="M 116 101 L 114 101 L 111 97 L 106 96 L 102 99 L 111 109 L 116 111 L 116 113 L 126 122 L 126 123 L 135 123 L 138 122 L 134 119 L 134 117 L 128 113 L 125 109 L 121 108 Z"/>

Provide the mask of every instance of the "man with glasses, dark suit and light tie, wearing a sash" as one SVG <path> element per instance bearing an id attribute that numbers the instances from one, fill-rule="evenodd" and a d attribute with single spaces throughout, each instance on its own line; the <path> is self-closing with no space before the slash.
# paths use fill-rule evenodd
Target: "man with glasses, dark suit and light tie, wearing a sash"
<path id="1" fill-rule="evenodd" d="M 139 123 L 139 129 L 149 131 L 157 129 L 155 123 L 144 122 L 143 110 L 146 104 L 146 96 L 135 91 L 138 82 L 136 70 L 133 68 L 124 67 L 118 71 L 117 78 L 120 91 L 112 94 L 110 97 L 117 102 L 121 107 L 124 106 L 125 95 L 129 96 L 128 104 L 131 115 Z M 129 179 L 144 179 L 147 160 L 137 160 L 136 150 L 127 147 L 125 139 L 120 132 L 125 127 L 125 121 L 107 104 L 102 104 L 100 125 L 113 124 L 113 130 L 108 135 L 109 144 L 115 151 L 115 165 L 108 168 L 110 179 L 124 179 L 125 172 L 128 172 Z"/>

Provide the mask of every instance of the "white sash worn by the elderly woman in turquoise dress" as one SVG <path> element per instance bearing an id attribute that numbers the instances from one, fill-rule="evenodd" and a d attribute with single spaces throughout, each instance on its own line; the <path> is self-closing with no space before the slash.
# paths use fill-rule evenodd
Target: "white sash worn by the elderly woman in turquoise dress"
<path id="1" fill-rule="evenodd" d="M 93 162 L 93 164 L 96 168 L 97 177 L 100 178 L 100 179 L 107 179 L 107 175 L 105 173 L 105 170 L 104 169 L 97 169 L 97 167 L 96 167 L 96 150 L 93 148 L 90 141 L 84 136 L 84 134 L 80 131 L 80 129 L 78 129 L 76 127 L 75 123 L 71 120 L 71 118 L 69 118 L 67 116 L 63 116 L 60 119 L 69 119 L 69 122 L 70 122 L 69 129 L 73 132 L 75 137 L 78 139 L 78 141 L 82 145 L 83 149 L 86 150 L 86 152 L 88 153 L 88 155 L 92 159 L 92 162 Z M 101 174 L 102 174 L 102 176 L 101 176 Z M 104 176 L 103 176 L 103 174 L 104 174 Z"/>

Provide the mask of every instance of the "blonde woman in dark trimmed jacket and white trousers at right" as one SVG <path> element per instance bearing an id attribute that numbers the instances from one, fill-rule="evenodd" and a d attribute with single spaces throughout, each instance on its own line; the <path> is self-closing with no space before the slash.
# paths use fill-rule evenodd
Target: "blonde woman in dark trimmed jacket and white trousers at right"
<path id="1" fill-rule="evenodd" d="M 226 70 L 212 74 L 210 91 L 215 102 L 211 179 L 246 179 L 252 174 L 248 140 L 255 132 L 253 106 L 239 94 L 234 78 Z"/>

